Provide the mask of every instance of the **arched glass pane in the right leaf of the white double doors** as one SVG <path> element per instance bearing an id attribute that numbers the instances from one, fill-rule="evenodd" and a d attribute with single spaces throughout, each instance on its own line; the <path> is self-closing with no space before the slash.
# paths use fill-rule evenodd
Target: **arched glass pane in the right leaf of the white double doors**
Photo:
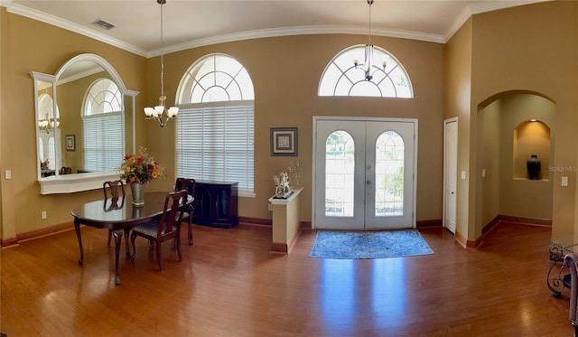
<path id="1" fill-rule="evenodd" d="M 404 140 L 386 131 L 376 141 L 376 217 L 404 215 Z"/>

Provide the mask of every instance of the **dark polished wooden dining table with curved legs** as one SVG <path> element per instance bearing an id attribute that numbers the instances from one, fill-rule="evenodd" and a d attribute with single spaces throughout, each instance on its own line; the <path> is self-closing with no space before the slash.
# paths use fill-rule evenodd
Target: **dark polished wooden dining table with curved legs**
<path id="1" fill-rule="evenodd" d="M 132 196 L 127 195 L 119 198 L 89 201 L 72 209 L 70 213 L 74 217 L 74 229 L 79 239 L 79 264 L 82 265 L 84 262 L 80 225 L 112 230 L 115 237 L 115 285 L 120 285 L 118 259 L 123 234 L 125 235 L 126 257 L 128 258 L 130 257 L 130 248 L 128 247 L 130 229 L 160 217 L 164 211 L 164 201 L 167 195 L 168 192 L 146 192 L 144 193 L 144 204 L 140 206 L 133 205 Z M 188 195 L 187 203 L 191 202 L 192 197 Z"/>

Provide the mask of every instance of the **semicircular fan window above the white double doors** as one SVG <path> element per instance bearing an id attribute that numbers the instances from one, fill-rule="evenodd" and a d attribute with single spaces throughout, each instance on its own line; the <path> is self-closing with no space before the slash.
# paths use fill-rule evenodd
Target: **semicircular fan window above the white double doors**
<path id="1" fill-rule="evenodd" d="M 319 96 L 366 96 L 383 98 L 413 98 L 411 81 L 402 64 L 389 52 L 374 47 L 371 80 L 365 80 L 363 66 L 365 46 L 353 46 L 341 51 L 325 67 L 319 83 Z"/>

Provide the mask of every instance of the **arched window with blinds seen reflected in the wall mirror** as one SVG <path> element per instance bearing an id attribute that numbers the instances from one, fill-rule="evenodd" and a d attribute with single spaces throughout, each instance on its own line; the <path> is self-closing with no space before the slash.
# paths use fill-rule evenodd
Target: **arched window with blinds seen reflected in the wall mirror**
<path id="1" fill-rule="evenodd" d="M 82 111 L 84 171 L 114 171 L 125 153 L 123 95 L 109 79 L 95 80 Z"/>

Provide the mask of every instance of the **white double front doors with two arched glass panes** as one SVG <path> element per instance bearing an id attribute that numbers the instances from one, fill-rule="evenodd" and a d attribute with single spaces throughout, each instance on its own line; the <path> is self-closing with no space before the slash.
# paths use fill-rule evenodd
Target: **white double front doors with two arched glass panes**
<path id="1" fill-rule="evenodd" d="M 415 227 L 417 120 L 313 117 L 314 229 Z"/>

